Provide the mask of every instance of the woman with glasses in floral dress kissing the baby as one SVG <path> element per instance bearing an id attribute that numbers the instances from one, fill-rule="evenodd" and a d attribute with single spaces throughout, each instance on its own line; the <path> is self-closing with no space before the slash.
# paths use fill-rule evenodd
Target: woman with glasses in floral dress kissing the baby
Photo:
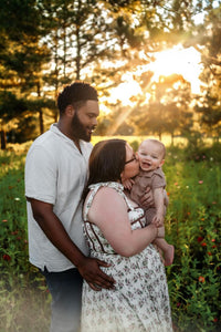
<path id="1" fill-rule="evenodd" d="M 151 242 L 155 225 L 124 194 L 122 181 L 139 172 L 133 148 L 123 139 L 99 142 L 90 158 L 84 193 L 84 225 L 91 256 L 110 264 L 103 270 L 115 289 L 83 287 L 82 332 L 168 332 L 170 305 L 165 268 Z"/>

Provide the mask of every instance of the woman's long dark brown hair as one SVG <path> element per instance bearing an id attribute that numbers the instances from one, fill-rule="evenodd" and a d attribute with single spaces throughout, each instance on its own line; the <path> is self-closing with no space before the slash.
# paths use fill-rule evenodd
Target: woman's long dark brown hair
<path id="1" fill-rule="evenodd" d="M 106 139 L 98 142 L 90 157 L 90 177 L 83 193 L 83 200 L 97 183 L 118 181 L 126 162 L 126 141 Z"/>

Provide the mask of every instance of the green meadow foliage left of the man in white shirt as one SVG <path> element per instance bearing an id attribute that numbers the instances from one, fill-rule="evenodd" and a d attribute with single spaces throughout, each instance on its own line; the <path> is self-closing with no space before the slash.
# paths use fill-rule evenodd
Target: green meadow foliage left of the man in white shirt
<path id="1" fill-rule="evenodd" d="M 24 148 L 0 154 L 0 331 L 48 331 L 50 295 L 28 261 Z M 15 146 L 17 148 L 18 146 Z M 3 194 L 3 195 L 2 195 Z M 38 314 L 36 314 L 38 312 Z"/>

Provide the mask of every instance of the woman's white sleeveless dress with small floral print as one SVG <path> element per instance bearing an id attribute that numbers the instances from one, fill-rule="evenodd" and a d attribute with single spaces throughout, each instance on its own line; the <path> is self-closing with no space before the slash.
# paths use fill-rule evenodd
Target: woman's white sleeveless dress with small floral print
<path id="1" fill-rule="evenodd" d="M 165 267 L 152 245 L 126 258 L 114 251 L 99 228 L 87 220 L 101 187 L 115 189 L 126 201 L 131 229 L 145 227 L 144 210 L 133 207 L 118 183 L 92 185 L 84 207 L 84 230 L 91 257 L 110 263 L 102 270 L 112 276 L 115 289 L 94 291 L 84 281 L 82 332 L 171 332 L 171 315 Z M 107 201 L 108 204 L 108 201 Z M 114 206 L 113 206 L 114 208 Z"/>

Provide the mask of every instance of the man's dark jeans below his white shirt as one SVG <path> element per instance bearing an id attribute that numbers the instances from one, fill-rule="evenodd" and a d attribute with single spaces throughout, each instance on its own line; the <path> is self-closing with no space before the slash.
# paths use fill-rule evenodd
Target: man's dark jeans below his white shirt
<path id="1" fill-rule="evenodd" d="M 51 332 L 78 332 L 82 309 L 83 278 L 77 269 L 41 273 L 52 295 Z"/>

